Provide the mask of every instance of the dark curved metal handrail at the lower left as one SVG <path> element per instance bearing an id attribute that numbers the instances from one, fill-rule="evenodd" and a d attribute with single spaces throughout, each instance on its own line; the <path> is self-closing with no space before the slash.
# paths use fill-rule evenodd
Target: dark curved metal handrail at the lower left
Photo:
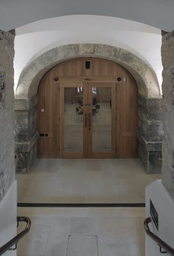
<path id="1" fill-rule="evenodd" d="M 0 248 L 0 255 L 3 255 L 4 252 L 8 251 L 14 244 L 17 244 L 19 240 L 29 232 L 31 227 L 31 220 L 26 216 L 17 216 L 17 223 L 24 221 L 26 222 L 26 228 L 22 230 L 17 236 L 13 237 L 8 243 L 4 244 Z"/>

